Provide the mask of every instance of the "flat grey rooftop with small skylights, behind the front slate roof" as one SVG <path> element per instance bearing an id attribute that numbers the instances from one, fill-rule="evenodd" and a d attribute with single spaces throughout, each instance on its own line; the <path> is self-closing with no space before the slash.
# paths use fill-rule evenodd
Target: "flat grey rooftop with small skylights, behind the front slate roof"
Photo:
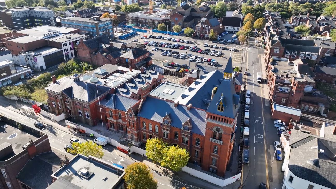
<path id="1" fill-rule="evenodd" d="M 177 83 L 161 83 L 150 92 L 150 95 L 160 99 L 175 101 L 187 88 L 188 86 Z"/>

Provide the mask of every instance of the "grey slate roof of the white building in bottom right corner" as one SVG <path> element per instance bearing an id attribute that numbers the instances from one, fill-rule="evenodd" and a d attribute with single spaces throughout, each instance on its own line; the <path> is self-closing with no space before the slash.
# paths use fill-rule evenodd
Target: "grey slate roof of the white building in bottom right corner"
<path id="1" fill-rule="evenodd" d="M 292 129 L 289 145 L 291 150 L 288 167 L 292 174 L 336 189 L 336 142 Z M 324 150 L 324 153 L 320 150 Z"/>

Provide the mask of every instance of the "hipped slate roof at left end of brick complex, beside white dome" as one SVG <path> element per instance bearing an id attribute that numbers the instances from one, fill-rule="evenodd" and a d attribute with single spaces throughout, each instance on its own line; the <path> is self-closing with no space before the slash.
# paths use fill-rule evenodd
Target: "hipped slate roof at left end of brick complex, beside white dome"
<path id="1" fill-rule="evenodd" d="M 109 90 L 111 87 L 97 85 L 98 94 L 101 95 Z M 85 102 L 90 102 L 97 98 L 96 85 L 90 82 L 77 81 L 74 82 L 71 77 L 63 77 L 56 83 L 51 83 L 45 87 L 45 90 L 50 90 L 54 93 L 64 92 L 69 98 L 78 99 Z"/>

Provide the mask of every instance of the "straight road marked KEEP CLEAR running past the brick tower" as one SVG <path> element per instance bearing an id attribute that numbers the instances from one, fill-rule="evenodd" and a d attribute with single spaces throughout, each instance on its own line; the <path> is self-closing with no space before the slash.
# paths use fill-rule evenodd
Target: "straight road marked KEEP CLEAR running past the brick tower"
<path id="1" fill-rule="evenodd" d="M 244 165 L 243 168 L 243 188 L 246 189 L 259 188 L 261 182 L 266 183 L 268 188 L 274 188 L 271 186 L 279 188 L 279 183 L 282 183 L 283 178 L 283 173 L 280 171 L 282 161 L 274 160 L 272 167 L 270 167 L 275 152 L 273 143 L 279 141 L 280 137 L 273 126 L 273 120 L 271 120 L 267 93 L 265 96 L 264 92 L 266 84 L 256 82 L 257 73 L 263 71 L 259 55 L 264 50 L 260 48 L 259 44 L 254 43 L 254 38 L 249 39 L 249 47 L 251 47 L 247 52 L 249 74 L 244 79 L 247 90 L 251 91 L 250 161 L 249 165 Z"/>

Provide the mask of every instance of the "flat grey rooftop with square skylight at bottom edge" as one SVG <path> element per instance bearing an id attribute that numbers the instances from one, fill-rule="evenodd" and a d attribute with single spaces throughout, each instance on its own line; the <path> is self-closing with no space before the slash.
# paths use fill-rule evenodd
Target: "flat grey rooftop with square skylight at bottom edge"
<path id="1" fill-rule="evenodd" d="M 83 168 L 88 170 L 89 173 L 92 173 L 88 179 L 79 173 Z M 119 175 L 120 174 L 122 173 L 119 173 Z M 119 179 L 115 169 L 89 160 L 82 155 L 75 156 L 69 165 L 59 169 L 53 176 L 61 180 L 69 181 L 82 189 L 110 189 L 115 186 L 116 181 Z"/>

